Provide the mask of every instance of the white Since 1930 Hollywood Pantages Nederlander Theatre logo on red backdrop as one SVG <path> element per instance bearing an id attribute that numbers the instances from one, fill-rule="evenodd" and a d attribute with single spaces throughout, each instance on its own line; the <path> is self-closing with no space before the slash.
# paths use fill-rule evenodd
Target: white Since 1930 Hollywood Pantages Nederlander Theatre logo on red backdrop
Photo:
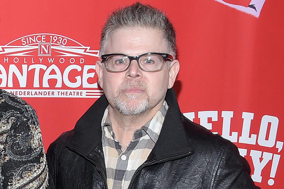
<path id="1" fill-rule="evenodd" d="M 99 50 L 51 33 L 0 45 L 0 87 L 20 97 L 98 98 Z"/>

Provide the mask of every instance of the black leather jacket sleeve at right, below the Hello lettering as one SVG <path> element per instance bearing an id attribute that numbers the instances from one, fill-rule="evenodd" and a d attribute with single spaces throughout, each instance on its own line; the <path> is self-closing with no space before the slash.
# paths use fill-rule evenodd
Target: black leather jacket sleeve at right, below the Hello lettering
<path id="1" fill-rule="evenodd" d="M 219 164 L 212 180 L 214 189 L 260 189 L 250 177 L 250 167 L 238 148 L 228 142 L 220 154 Z"/>

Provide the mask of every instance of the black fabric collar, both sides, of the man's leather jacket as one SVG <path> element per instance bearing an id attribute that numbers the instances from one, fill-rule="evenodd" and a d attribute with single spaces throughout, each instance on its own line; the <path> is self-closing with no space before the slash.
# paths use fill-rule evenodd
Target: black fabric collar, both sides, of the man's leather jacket
<path id="1" fill-rule="evenodd" d="M 169 109 L 156 145 L 149 155 L 149 158 L 157 161 L 193 151 L 183 126 L 183 116 L 174 89 L 168 89 L 165 100 Z M 101 119 L 107 105 L 106 97 L 102 95 L 78 120 L 67 146 L 77 149 L 84 155 L 90 154 L 95 148 L 102 150 Z"/>

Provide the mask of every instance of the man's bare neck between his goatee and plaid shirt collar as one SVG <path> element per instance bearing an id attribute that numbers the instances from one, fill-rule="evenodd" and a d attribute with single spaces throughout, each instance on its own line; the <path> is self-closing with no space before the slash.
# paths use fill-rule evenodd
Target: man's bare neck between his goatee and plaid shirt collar
<path id="1" fill-rule="evenodd" d="M 112 122 L 112 129 L 123 151 L 125 151 L 130 141 L 132 141 L 134 131 L 140 129 L 153 118 L 156 112 L 162 107 L 163 102 L 159 102 L 155 107 L 146 110 L 144 113 L 133 116 L 122 115 L 119 110 L 109 105 L 109 118 Z"/>

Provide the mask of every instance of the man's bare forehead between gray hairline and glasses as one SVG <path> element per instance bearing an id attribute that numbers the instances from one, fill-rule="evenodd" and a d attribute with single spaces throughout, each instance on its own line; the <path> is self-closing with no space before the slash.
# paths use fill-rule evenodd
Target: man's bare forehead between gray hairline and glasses
<path id="1" fill-rule="evenodd" d="M 136 56 L 143 53 L 168 53 L 162 32 L 151 28 L 122 28 L 114 31 L 105 53 L 123 53 Z"/>

